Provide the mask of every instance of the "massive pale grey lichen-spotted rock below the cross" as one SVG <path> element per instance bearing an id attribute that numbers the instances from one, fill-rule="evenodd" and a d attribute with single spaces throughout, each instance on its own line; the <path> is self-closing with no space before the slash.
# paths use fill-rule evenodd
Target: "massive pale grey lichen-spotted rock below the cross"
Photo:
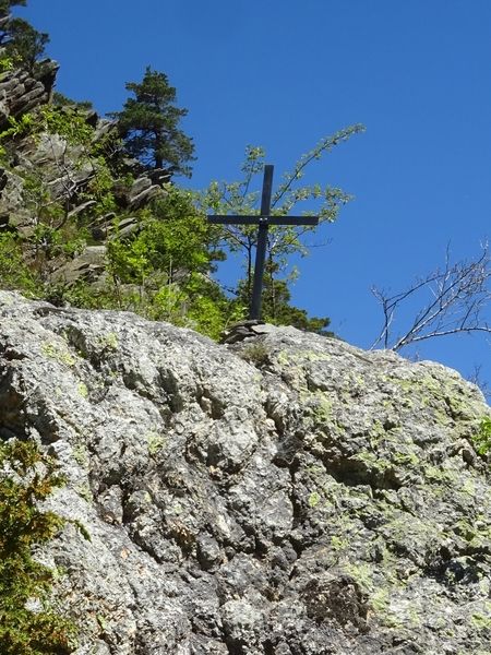
<path id="1" fill-rule="evenodd" d="M 490 652 L 480 392 L 292 329 L 233 346 L 0 293 L 0 434 L 76 519 L 39 557 L 76 655 Z"/>

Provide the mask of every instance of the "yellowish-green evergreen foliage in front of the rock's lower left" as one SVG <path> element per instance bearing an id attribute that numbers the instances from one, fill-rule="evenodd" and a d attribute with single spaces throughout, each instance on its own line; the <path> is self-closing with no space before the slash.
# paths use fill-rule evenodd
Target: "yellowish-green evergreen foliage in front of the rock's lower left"
<path id="1" fill-rule="evenodd" d="M 0 644 L 2 655 L 68 655 L 74 628 L 49 604 L 53 572 L 33 548 L 62 525 L 38 503 L 63 483 L 52 458 L 29 442 L 0 444 Z M 35 608 L 31 608 L 35 606 Z"/>

